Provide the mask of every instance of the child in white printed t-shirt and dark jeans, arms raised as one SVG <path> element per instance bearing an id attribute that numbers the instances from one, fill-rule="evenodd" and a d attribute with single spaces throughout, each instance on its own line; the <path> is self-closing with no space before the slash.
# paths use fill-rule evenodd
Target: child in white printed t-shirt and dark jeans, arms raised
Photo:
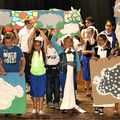
<path id="1" fill-rule="evenodd" d="M 53 107 L 58 109 L 60 101 L 60 81 L 58 65 L 60 62 L 59 55 L 55 50 L 52 43 L 47 46 L 46 54 L 46 99 L 47 107 Z M 52 93 L 54 93 L 54 100 L 52 101 Z"/>

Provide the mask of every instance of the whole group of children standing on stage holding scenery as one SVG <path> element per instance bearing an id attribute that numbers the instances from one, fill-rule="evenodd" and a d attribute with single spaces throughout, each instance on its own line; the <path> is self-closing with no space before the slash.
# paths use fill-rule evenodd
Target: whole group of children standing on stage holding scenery
<path id="1" fill-rule="evenodd" d="M 91 97 L 90 59 L 93 58 L 95 61 L 99 58 L 110 59 L 119 50 L 112 21 L 106 21 L 105 30 L 101 33 L 98 33 L 95 28 L 92 17 L 88 17 L 85 24 L 86 28 L 81 31 L 80 35 L 82 53 L 74 48 L 74 37 L 66 36 L 62 45 L 59 45 L 57 43 L 58 29 L 51 30 L 49 34 L 46 29 L 33 27 L 30 19 L 25 21 L 25 27 L 19 31 L 18 35 L 13 33 L 4 35 L 3 44 L 0 47 L 0 74 L 18 72 L 22 75 L 25 70 L 26 79 L 29 79 L 30 83 L 33 114 L 44 114 L 45 94 L 47 107 L 53 105 L 55 109 L 59 109 L 60 85 L 62 113 L 67 112 L 68 109 L 85 112 L 76 105 L 75 91 L 77 80 L 80 78 L 80 62 L 83 64 L 86 96 Z M 17 37 L 14 38 L 14 36 Z M 21 48 L 18 47 L 19 45 Z M 103 115 L 103 107 L 95 105 L 95 112 Z M 118 113 L 118 103 L 116 103 L 114 113 Z"/>

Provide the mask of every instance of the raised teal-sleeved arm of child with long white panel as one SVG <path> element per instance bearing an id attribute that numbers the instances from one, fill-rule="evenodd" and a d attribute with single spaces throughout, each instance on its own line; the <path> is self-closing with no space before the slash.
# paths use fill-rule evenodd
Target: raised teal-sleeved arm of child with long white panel
<path id="1" fill-rule="evenodd" d="M 56 51 L 58 52 L 58 54 L 60 54 L 60 53 L 62 53 L 64 51 L 64 49 L 63 49 L 63 47 L 58 45 L 56 40 L 57 40 L 56 35 L 53 35 L 52 39 L 51 39 L 51 42 L 52 42 L 53 46 L 55 47 Z"/>

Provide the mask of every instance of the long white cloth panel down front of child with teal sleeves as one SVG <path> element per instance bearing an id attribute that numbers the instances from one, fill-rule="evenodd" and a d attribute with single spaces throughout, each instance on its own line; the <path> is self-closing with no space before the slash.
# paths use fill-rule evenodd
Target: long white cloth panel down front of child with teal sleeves
<path id="1" fill-rule="evenodd" d="M 67 54 L 67 61 L 73 61 L 74 56 L 73 54 Z M 62 103 L 60 109 L 72 109 L 75 108 L 81 113 L 84 113 L 83 109 L 79 108 L 75 102 L 75 91 L 74 91 L 74 82 L 73 82 L 73 66 L 67 65 L 67 75 L 66 75 L 66 82 L 64 87 L 64 95 L 62 99 Z"/>

